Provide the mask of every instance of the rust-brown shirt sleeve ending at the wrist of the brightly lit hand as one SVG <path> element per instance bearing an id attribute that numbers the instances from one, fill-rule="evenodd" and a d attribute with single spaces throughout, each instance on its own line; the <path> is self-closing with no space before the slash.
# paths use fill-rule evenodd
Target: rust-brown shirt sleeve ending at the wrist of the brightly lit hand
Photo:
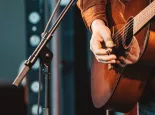
<path id="1" fill-rule="evenodd" d="M 107 0 L 78 0 L 77 6 L 81 11 L 86 26 L 91 30 L 91 23 L 95 19 L 103 20 L 108 25 L 106 18 Z"/>

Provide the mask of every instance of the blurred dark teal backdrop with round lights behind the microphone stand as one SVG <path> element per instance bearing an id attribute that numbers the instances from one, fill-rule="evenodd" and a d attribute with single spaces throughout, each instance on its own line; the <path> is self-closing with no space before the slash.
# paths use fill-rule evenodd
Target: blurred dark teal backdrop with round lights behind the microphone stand
<path id="1" fill-rule="evenodd" d="M 62 0 L 52 21 L 69 0 Z M 24 61 L 41 40 L 56 0 L 0 0 L 0 114 L 37 115 L 39 60 L 21 85 L 12 86 Z M 52 26 L 52 24 L 51 24 Z M 90 32 L 76 5 L 64 16 L 47 45 L 53 52 L 50 76 L 51 115 L 101 115 L 90 95 Z M 45 76 L 41 77 L 39 115 L 45 107 Z"/>

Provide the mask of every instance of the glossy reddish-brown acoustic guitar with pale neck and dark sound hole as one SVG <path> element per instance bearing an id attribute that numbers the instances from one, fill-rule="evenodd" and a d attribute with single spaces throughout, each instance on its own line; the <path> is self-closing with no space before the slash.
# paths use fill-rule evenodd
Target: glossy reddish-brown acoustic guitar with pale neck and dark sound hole
<path id="1" fill-rule="evenodd" d="M 116 1 L 116 2 L 113 2 Z M 131 1 L 131 2 L 130 2 Z M 148 43 L 149 21 L 155 15 L 155 1 L 111 0 L 107 3 L 108 25 L 112 28 L 114 53 L 128 57 L 132 41 L 139 45 L 139 58 L 134 64 L 112 65 L 98 62 L 93 56 L 91 68 L 91 95 L 95 107 L 119 112 L 130 111 L 141 99 L 153 72 L 154 57 L 149 56 L 152 47 Z M 154 40 L 155 43 L 155 40 Z M 129 50 L 129 52 L 130 52 Z M 151 63 L 149 60 L 151 59 Z"/>

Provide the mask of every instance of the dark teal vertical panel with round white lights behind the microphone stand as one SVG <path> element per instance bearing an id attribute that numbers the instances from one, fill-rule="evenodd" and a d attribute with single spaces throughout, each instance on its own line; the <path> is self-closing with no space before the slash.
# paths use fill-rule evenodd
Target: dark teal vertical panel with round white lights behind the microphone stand
<path id="1" fill-rule="evenodd" d="M 41 41 L 41 34 L 44 30 L 45 23 L 45 2 L 42 0 L 24 0 L 25 1 L 25 18 L 26 18 L 26 47 L 27 54 L 29 57 L 32 55 L 35 48 Z M 30 68 L 31 71 L 27 75 L 27 87 L 28 87 L 28 115 L 37 115 L 37 96 L 39 91 L 39 67 L 40 59 L 37 58 L 33 66 Z M 41 78 L 43 79 L 43 78 Z M 43 81 L 43 80 L 42 80 Z M 44 92 L 44 82 L 41 83 L 41 91 Z M 44 106 L 44 95 L 40 97 L 40 106 Z M 40 114 L 43 115 L 43 110 L 40 107 Z"/>

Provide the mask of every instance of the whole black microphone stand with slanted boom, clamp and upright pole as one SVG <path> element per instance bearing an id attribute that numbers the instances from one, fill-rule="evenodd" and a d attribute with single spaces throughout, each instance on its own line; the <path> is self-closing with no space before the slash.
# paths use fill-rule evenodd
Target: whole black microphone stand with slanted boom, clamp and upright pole
<path id="1" fill-rule="evenodd" d="M 36 62 L 37 58 L 40 58 L 41 66 L 44 65 L 46 67 L 46 69 L 47 69 L 47 72 L 45 72 L 46 73 L 46 77 L 45 77 L 46 79 L 45 79 L 45 111 L 44 111 L 44 115 L 50 115 L 50 110 L 49 110 L 49 106 L 50 106 L 50 104 L 49 104 L 49 100 L 50 100 L 50 81 L 49 81 L 49 79 L 50 79 L 50 65 L 51 65 L 51 60 L 52 60 L 52 57 L 53 57 L 52 52 L 46 47 L 46 45 L 51 40 L 51 38 L 53 37 L 53 34 L 54 34 L 56 28 L 58 27 L 58 25 L 60 24 L 61 20 L 63 19 L 64 15 L 67 13 L 69 8 L 71 8 L 71 6 L 73 5 L 73 3 L 75 1 L 76 0 L 71 0 L 66 5 L 66 7 L 63 9 L 63 11 L 61 12 L 59 17 L 55 21 L 52 28 L 48 32 L 45 32 L 45 31 L 43 32 L 41 42 L 36 47 L 36 49 L 34 50 L 32 55 L 30 55 L 30 57 L 25 61 L 24 68 L 20 71 L 20 73 L 18 74 L 18 76 L 16 77 L 16 79 L 13 82 L 13 85 L 19 86 L 19 84 L 22 82 L 24 77 L 26 77 L 26 75 L 29 72 L 29 70 L 31 69 L 31 67 Z M 58 4 L 59 3 L 60 3 L 60 1 L 58 2 Z M 55 11 L 53 12 L 53 15 L 54 15 L 54 13 L 55 13 Z M 50 18 L 50 20 L 51 19 L 52 18 Z M 47 27 L 45 28 L 45 30 L 46 29 L 47 29 Z"/>

